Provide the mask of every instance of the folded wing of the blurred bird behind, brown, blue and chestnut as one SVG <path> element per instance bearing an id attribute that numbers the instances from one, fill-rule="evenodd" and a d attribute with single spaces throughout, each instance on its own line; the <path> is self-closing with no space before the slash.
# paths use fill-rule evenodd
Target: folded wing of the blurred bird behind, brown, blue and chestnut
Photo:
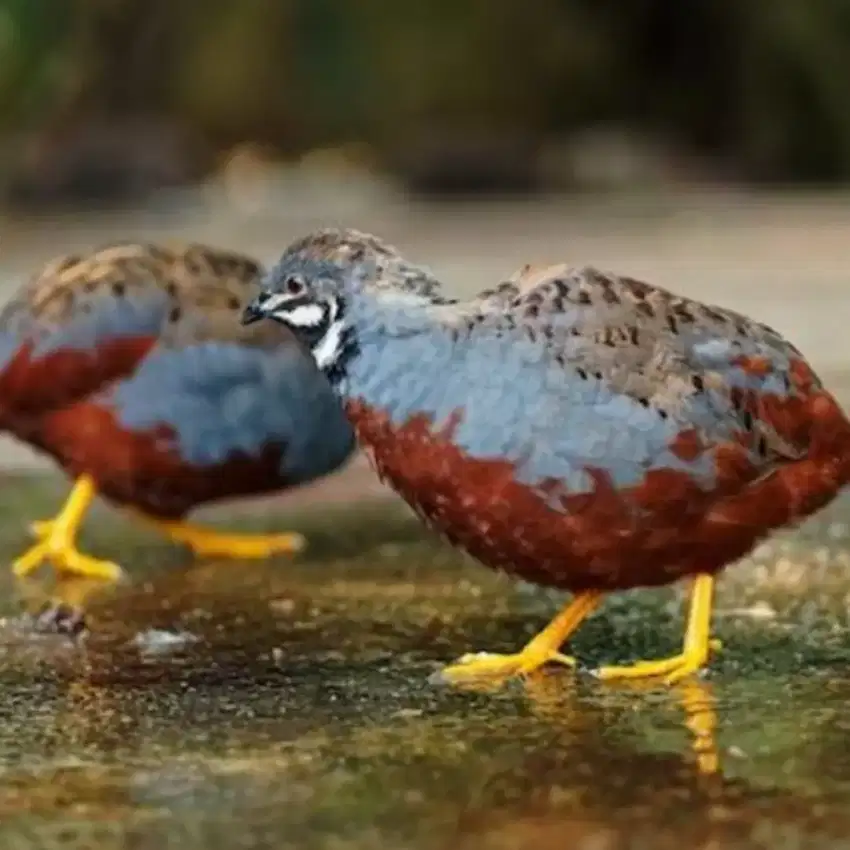
<path id="1" fill-rule="evenodd" d="M 130 374 L 181 292 L 259 271 L 201 245 L 116 244 L 54 260 L 0 312 L 0 409 L 7 419 L 54 409 Z"/>

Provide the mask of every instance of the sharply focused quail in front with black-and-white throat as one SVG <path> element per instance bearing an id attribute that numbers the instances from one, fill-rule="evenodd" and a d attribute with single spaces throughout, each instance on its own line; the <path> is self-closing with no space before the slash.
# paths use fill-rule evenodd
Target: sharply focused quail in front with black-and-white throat
<path id="1" fill-rule="evenodd" d="M 681 652 L 593 669 L 608 681 L 699 675 L 715 578 L 850 478 L 850 423 L 767 325 L 594 266 L 529 265 L 469 300 L 398 253 L 323 228 L 291 243 L 243 322 L 300 334 L 358 443 L 446 540 L 569 591 L 518 651 L 470 652 L 440 681 L 549 663 L 614 592 L 690 580 Z"/>

